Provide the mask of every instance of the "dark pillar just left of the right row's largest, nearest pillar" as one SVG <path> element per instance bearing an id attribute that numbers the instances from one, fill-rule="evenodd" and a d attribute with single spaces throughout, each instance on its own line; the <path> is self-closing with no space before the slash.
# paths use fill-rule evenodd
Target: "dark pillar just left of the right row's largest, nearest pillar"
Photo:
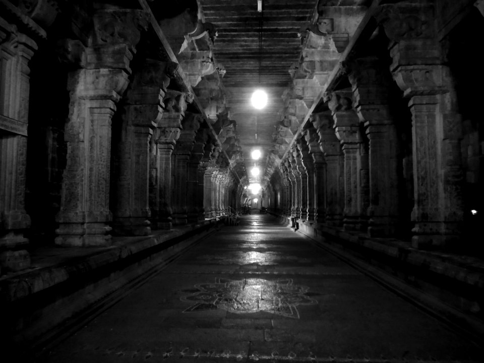
<path id="1" fill-rule="evenodd" d="M 349 80 L 356 100 L 356 111 L 369 139 L 370 236 L 394 234 L 398 221 L 397 174 L 398 140 L 390 116 L 390 73 L 376 58 L 357 59 Z M 390 79 L 389 79 L 390 78 Z"/>

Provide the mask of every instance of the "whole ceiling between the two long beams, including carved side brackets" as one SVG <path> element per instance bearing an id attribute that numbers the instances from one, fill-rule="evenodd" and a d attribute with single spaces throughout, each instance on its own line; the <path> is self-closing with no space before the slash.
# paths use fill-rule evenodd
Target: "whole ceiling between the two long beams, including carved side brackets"
<path id="1" fill-rule="evenodd" d="M 263 0 L 260 13 L 257 0 L 179 0 L 168 6 L 150 2 L 239 177 L 250 176 L 251 151 L 261 149 L 261 174 L 249 181 L 263 185 L 319 102 L 371 3 Z M 180 13 L 184 8 L 188 10 Z M 193 21 L 199 25 L 185 26 Z M 185 50 L 184 39 L 189 41 Z M 195 72 L 190 73 L 192 68 Z M 250 103 L 257 88 L 268 93 L 263 110 Z"/>

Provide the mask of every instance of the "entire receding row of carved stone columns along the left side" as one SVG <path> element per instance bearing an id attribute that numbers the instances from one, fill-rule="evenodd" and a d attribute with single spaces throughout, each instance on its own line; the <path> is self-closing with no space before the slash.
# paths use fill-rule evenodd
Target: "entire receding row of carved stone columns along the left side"
<path id="1" fill-rule="evenodd" d="M 141 10 L 99 9 L 88 45 L 65 41 L 70 102 L 56 245 L 108 246 L 112 233 L 148 235 L 223 215 L 228 206 L 235 176 L 222 146 L 208 120 L 187 111 L 193 93 L 169 88 L 179 66 L 159 46 L 137 48 L 148 19 Z M 0 268 L 12 271 L 30 265 L 24 204 L 28 62 L 36 49 L 0 17 L 7 70 L 0 75 Z"/>

